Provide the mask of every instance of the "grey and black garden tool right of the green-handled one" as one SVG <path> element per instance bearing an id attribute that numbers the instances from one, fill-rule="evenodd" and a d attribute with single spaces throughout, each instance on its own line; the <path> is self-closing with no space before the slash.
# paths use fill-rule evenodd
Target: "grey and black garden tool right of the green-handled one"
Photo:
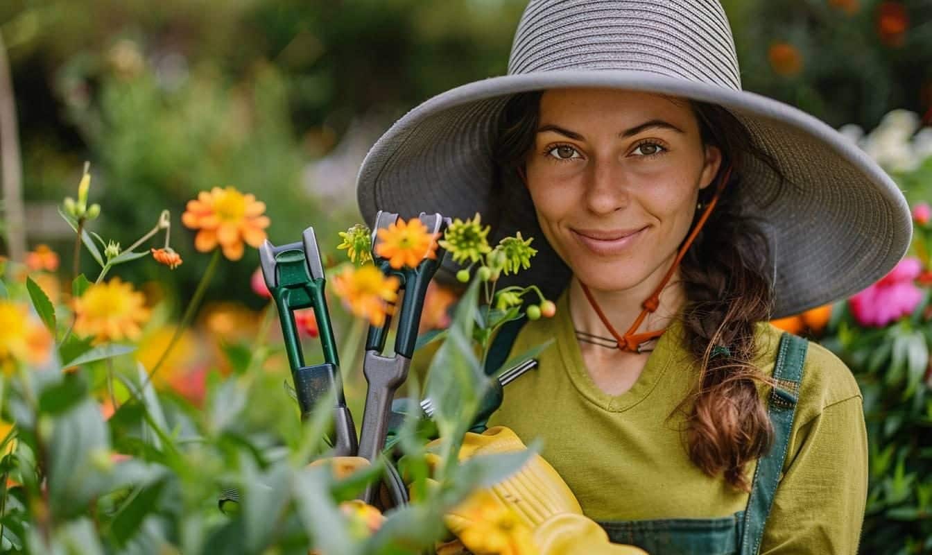
<path id="1" fill-rule="evenodd" d="M 449 218 L 439 214 L 419 216 L 428 231 L 433 234 L 441 233 L 449 225 Z M 376 216 L 376 226 L 373 231 L 373 261 L 386 275 L 396 276 L 400 281 L 400 289 L 404 290 L 401 310 L 396 310 L 398 327 L 394 341 L 394 354 L 382 355 L 385 349 L 386 337 L 392 316 L 386 318 L 382 326 L 370 326 L 365 342 L 365 358 L 363 360 L 363 375 L 368 382 L 368 391 L 365 398 L 365 411 L 363 413 L 363 430 L 360 435 L 359 455 L 370 461 L 375 461 L 385 445 L 385 437 L 389 428 L 391 417 L 391 401 L 398 387 L 407 379 L 408 368 L 411 365 L 411 356 L 414 354 L 418 339 L 418 325 L 420 313 L 424 306 L 424 296 L 427 286 L 431 283 L 433 273 L 437 271 L 445 251 L 437 248 L 435 258 L 424 258 L 417 268 L 391 268 L 389 261 L 378 257 L 377 230 L 387 229 L 398 221 L 398 215 L 379 211 Z M 371 500 L 371 488 L 366 492 L 365 501 Z"/>

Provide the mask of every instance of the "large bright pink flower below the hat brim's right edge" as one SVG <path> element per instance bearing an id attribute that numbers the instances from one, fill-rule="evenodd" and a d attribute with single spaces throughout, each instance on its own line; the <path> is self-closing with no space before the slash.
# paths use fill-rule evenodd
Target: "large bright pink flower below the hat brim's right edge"
<path id="1" fill-rule="evenodd" d="M 922 270 L 918 258 L 903 258 L 879 282 L 848 299 L 857 323 L 883 327 L 911 314 L 923 298 L 922 291 L 913 283 Z"/>

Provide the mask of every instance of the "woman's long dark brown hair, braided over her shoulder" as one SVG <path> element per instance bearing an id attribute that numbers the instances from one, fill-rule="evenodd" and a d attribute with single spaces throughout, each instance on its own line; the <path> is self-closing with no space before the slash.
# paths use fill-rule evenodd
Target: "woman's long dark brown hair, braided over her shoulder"
<path id="1" fill-rule="evenodd" d="M 518 172 L 534 144 L 540 100 L 540 91 L 518 94 L 502 110 L 493 157 L 500 164 L 503 189 L 524 187 Z M 749 491 L 745 465 L 765 454 L 773 437 L 757 389 L 757 382 L 772 381 L 753 364 L 758 354 L 756 324 L 769 319 L 773 290 L 766 237 L 756 222 L 739 211 L 741 175 L 751 158 L 780 172 L 730 112 L 715 104 L 691 104 L 703 145 L 718 146 L 722 152 L 717 179 L 729 164 L 733 173 L 680 263 L 687 299 L 683 328 L 699 377 L 679 409 L 692 401 L 686 440 L 693 464 L 709 476 L 723 473 L 735 489 Z M 700 191 L 700 202 L 709 201 L 714 188 Z M 696 217 L 699 214 L 697 210 Z"/>

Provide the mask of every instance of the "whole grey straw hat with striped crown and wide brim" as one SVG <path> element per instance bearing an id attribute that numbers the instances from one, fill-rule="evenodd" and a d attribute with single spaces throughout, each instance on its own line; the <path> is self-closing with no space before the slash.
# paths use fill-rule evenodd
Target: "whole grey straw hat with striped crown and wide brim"
<path id="1" fill-rule="evenodd" d="M 499 172 L 491 153 L 512 95 L 573 87 L 719 104 L 747 127 L 790 182 L 756 159 L 741 171 L 742 197 L 750 200 L 743 210 L 761 221 L 774 258 L 774 317 L 856 293 L 909 247 L 909 207 L 877 164 L 822 121 L 741 89 L 718 0 L 532 0 L 514 35 L 508 75 L 433 97 L 372 147 L 357 182 L 363 217 L 371 225 L 378 210 L 461 218 L 499 212 L 493 235 L 521 230 L 537 238 L 540 252 L 522 281 L 555 296 L 569 270 L 543 238 L 527 191 L 514 191 L 506 206 L 490 205 Z M 455 270 L 449 259 L 445 265 Z"/>

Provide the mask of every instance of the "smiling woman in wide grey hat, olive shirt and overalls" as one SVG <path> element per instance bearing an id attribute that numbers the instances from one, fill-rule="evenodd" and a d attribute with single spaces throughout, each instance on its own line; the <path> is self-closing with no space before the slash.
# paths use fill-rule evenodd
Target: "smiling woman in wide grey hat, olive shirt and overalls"
<path id="1" fill-rule="evenodd" d="M 559 296 L 557 317 L 496 348 L 555 346 L 508 386 L 489 436 L 541 438 L 534 491 L 601 526 L 536 535 L 549 552 L 606 537 L 651 553 L 857 551 L 857 383 L 766 322 L 883 276 L 909 211 L 838 133 L 739 76 L 718 2 L 532 1 L 508 76 L 418 106 L 363 162 L 369 220 L 480 212 L 500 236 L 546 240 L 526 279 Z"/>

